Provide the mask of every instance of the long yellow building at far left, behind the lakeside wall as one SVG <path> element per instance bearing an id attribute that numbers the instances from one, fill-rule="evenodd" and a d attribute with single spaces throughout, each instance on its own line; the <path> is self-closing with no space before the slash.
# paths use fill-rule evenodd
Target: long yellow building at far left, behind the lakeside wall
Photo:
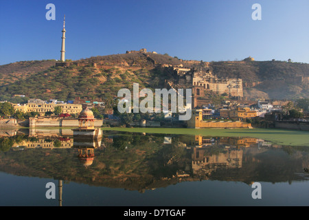
<path id="1" fill-rule="evenodd" d="M 55 107 L 61 107 L 62 113 L 79 114 L 82 111 L 82 104 L 55 104 L 55 103 L 27 103 L 12 104 L 15 111 L 38 112 L 40 116 L 44 116 L 47 111 L 55 111 Z"/>

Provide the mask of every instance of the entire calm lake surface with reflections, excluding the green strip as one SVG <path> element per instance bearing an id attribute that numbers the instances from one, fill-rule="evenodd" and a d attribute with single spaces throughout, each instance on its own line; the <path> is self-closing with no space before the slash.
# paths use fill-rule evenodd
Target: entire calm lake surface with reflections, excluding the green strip
<path id="1" fill-rule="evenodd" d="M 85 140 L 70 129 L 0 130 L 0 206 L 309 206 L 306 144 L 170 131 Z"/>

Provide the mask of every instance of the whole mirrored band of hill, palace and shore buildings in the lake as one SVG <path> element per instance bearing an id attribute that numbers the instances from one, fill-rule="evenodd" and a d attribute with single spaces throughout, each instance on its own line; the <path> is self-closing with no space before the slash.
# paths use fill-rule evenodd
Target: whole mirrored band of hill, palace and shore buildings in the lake
<path id="1" fill-rule="evenodd" d="M 251 137 L 106 132 L 79 137 L 69 129 L 2 132 L 0 170 L 93 186 L 153 190 L 181 181 L 308 180 L 307 147 Z"/>

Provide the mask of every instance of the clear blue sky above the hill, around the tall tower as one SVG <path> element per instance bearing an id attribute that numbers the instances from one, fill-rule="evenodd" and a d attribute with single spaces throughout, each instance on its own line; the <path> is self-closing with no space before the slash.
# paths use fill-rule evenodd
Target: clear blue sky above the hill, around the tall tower
<path id="1" fill-rule="evenodd" d="M 47 3 L 56 20 L 47 21 Z M 262 20 L 253 21 L 253 3 Z M 186 60 L 309 63 L 308 0 L 0 0 L 0 65 L 146 48 Z"/>

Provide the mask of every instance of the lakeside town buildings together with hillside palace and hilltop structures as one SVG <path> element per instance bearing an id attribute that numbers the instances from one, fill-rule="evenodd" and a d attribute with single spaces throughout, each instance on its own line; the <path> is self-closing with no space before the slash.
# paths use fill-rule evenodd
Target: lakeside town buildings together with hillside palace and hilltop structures
<path id="1" fill-rule="evenodd" d="M 126 54 L 141 54 L 149 58 L 146 49 Z M 254 58 L 251 57 L 244 59 L 244 62 L 253 61 Z M 56 63 L 63 64 L 68 67 L 72 62 Z M 126 88 L 119 89 L 117 96 L 109 94 L 109 97 L 113 97 L 112 100 L 87 97 L 41 100 L 14 94 L 11 98 L 14 102 L 1 100 L 0 126 L 78 126 L 79 113 L 83 109 L 91 109 L 96 118 L 95 126 L 309 130 L 308 98 L 249 99 L 244 96 L 247 83 L 241 78 L 219 78 L 207 65 L 204 68 L 161 63 L 157 65 L 166 78 L 164 88 L 145 88 L 133 83 L 133 98 Z M 303 78 L 301 80 L 304 81 Z M 304 83 L 308 87 L 308 80 Z M 152 90 L 156 91 L 156 95 Z M 139 97 L 146 98 L 139 103 Z M 152 103 L 154 98 L 155 106 Z"/>

